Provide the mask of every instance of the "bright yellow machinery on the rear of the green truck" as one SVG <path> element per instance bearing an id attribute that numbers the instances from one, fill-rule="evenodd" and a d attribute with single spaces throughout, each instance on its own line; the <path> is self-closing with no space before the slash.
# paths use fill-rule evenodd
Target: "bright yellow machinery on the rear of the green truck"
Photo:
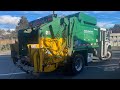
<path id="1" fill-rule="evenodd" d="M 31 47 L 30 47 L 31 46 Z M 28 44 L 30 58 L 35 72 L 54 71 L 59 62 L 64 61 L 67 56 L 65 40 L 40 38 L 39 44 Z M 43 67 L 43 65 L 45 65 Z"/>

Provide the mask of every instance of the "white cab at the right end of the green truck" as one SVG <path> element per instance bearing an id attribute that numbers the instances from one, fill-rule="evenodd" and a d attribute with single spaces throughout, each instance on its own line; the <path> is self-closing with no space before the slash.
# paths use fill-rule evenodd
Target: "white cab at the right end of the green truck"
<path id="1" fill-rule="evenodd" d="M 99 37 L 99 58 L 101 60 L 108 60 L 112 57 L 110 35 L 109 31 L 105 28 L 100 28 Z"/>

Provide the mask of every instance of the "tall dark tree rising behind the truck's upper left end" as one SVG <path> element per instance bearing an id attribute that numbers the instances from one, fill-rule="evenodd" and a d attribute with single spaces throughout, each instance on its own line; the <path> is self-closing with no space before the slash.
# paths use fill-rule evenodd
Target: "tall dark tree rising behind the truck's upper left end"
<path id="1" fill-rule="evenodd" d="M 16 26 L 16 31 L 20 30 L 20 29 L 24 29 L 26 27 L 28 27 L 28 20 L 25 16 L 22 16 L 18 25 Z"/>

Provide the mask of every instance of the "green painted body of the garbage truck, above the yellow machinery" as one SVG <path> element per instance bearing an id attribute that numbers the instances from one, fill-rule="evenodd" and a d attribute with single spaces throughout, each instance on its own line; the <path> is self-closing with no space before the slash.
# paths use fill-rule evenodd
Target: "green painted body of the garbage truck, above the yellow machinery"
<path id="1" fill-rule="evenodd" d="M 69 32 L 64 32 L 65 37 L 69 39 L 69 42 L 73 41 L 74 50 L 80 49 L 89 49 L 99 47 L 98 39 L 99 39 L 99 28 L 96 26 L 97 20 L 94 17 L 86 15 L 84 13 L 76 13 L 73 15 L 68 15 L 64 17 L 64 22 L 68 26 L 66 31 L 69 29 Z M 49 26 L 52 26 L 54 37 L 63 37 L 62 30 L 65 27 L 62 27 L 60 24 L 62 23 L 62 18 L 49 15 L 43 17 L 41 19 L 30 22 L 31 27 L 40 26 L 39 29 L 31 30 L 19 30 L 18 38 L 19 38 L 19 49 L 20 54 L 25 54 L 27 52 L 27 44 L 28 43 L 37 43 L 37 37 L 40 33 L 45 37 L 52 37 L 50 34 L 46 35 L 46 31 L 49 31 Z M 39 35 L 37 34 L 39 33 Z M 72 38 L 71 38 L 72 37 Z M 35 40 L 33 40 L 35 39 Z M 29 42 L 31 41 L 32 42 Z M 69 43 L 70 44 L 70 43 Z M 25 50 L 22 50 L 22 47 L 25 47 Z"/>

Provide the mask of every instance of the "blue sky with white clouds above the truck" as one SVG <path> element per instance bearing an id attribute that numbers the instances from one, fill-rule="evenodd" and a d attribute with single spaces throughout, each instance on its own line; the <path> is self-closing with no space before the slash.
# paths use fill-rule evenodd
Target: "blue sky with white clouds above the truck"
<path id="1" fill-rule="evenodd" d="M 66 16 L 77 12 L 95 17 L 100 27 L 110 28 L 114 24 L 120 24 L 120 11 L 55 11 L 55 14 Z M 52 13 L 52 11 L 0 11 L 0 29 L 14 30 L 21 16 L 27 17 L 30 22 Z"/>

